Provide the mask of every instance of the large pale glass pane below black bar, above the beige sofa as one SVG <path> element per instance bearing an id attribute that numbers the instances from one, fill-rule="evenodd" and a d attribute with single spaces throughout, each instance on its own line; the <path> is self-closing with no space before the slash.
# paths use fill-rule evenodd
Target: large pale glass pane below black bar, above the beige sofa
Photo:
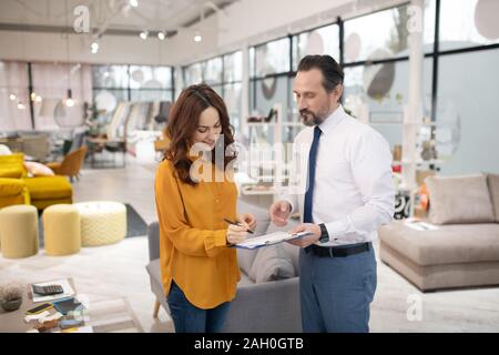
<path id="1" fill-rule="evenodd" d="M 497 63 L 498 49 L 440 58 L 436 143 L 445 175 L 499 172 Z"/>

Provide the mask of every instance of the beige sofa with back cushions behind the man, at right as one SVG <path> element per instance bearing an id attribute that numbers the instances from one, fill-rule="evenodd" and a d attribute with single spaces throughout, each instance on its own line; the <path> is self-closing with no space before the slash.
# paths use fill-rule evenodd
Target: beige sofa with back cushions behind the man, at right
<path id="1" fill-rule="evenodd" d="M 379 229 L 384 263 L 421 291 L 499 285 L 499 175 L 427 178 L 428 222 Z"/>

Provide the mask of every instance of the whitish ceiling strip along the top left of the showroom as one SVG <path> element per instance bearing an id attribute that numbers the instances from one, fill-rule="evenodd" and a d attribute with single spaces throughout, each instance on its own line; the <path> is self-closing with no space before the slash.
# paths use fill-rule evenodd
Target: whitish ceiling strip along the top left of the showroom
<path id="1" fill-rule="evenodd" d="M 129 0 L 1 0 L 0 24 L 28 26 L 31 30 L 71 27 L 73 9 L 83 4 L 90 10 L 92 29 L 177 30 L 234 1 L 138 0 L 139 7 L 133 8 Z"/>

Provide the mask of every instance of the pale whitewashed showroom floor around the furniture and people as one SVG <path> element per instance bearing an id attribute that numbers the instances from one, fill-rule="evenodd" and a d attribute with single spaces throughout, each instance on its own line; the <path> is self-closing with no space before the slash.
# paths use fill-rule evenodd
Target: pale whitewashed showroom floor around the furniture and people
<path id="1" fill-rule="evenodd" d="M 155 220 L 154 166 L 129 159 L 126 169 L 84 170 L 73 183 L 74 201 L 111 200 L 130 203 L 151 223 Z M 34 282 L 72 276 L 80 294 L 90 300 L 124 296 L 145 332 L 172 332 L 164 311 L 152 318 L 154 296 L 145 265 L 146 237 L 85 247 L 64 257 L 43 251 L 22 260 L 0 256 L 0 280 Z M 420 312 L 418 313 L 418 311 Z M 292 310 L 289 312 L 293 312 Z M 378 262 L 378 286 L 371 304 L 371 332 L 499 332 L 499 287 L 424 294 L 387 265 Z"/>

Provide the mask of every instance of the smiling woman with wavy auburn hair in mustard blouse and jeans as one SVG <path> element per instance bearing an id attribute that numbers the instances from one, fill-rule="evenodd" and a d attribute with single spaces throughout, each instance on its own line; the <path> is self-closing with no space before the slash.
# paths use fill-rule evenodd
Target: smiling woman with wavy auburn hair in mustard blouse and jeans
<path id="1" fill-rule="evenodd" d="M 255 227 L 252 214 L 236 213 L 235 156 L 224 156 L 234 139 L 222 98 L 205 84 L 186 88 L 165 135 L 170 148 L 155 179 L 163 288 L 175 332 L 218 332 L 241 277 L 228 246 Z"/>

